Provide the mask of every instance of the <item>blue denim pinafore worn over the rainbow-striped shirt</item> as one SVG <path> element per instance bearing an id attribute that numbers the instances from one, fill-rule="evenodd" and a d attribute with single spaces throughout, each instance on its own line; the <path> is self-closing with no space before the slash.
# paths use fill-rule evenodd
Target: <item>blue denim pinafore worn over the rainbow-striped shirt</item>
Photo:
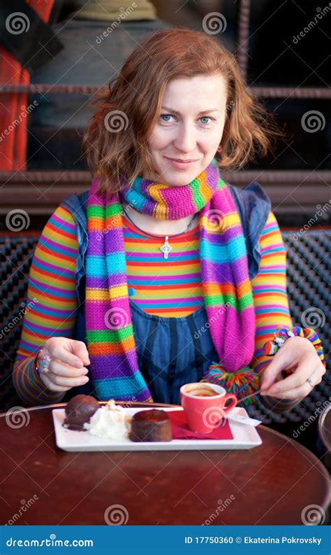
<path id="1" fill-rule="evenodd" d="M 258 239 L 265 227 L 271 209 L 269 197 L 258 183 L 251 183 L 246 189 L 228 185 L 240 214 L 246 240 L 249 278 L 258 273 L 260 251 Z M 76 291 L 78 309 L 73 339 L 87 345 L 85 327 L 85 269 L 84 254 L 87 249 L 87 207 L 88 191 L 77 196 L 69 195 L 61 204 L 73 213 L 78 230 L 79 255 L 76 267 Z M 129 304 L 135 346 L 140 372 L 149 386 L 154 402 L 180 405 L 179 388 L 191 381 L 200 381 L 213 362 L 219 362 L 207 323 L 207 311 L 201 306 L 189 316 L 181 318 L 156 316 L 140 309 L 130 296 Z M 66 393 L 65 400 L 73 395 L 93 394 L 91 375 L 89 382 L 74 387 Z M 134 399 L 133 399 L 134 400 Z"/>

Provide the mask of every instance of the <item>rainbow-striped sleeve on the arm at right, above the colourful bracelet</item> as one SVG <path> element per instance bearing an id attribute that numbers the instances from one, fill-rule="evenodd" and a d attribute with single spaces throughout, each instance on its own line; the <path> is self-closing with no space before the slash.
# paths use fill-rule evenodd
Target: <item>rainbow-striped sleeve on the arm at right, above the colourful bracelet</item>
<path id="1" fill-rule="evenodd" d="M 263 353 L 263 345 L 272 339 L 274 330 L 281 325 L 292 328 L 286 290 L 286 249 L 274 213 L 270 212 L 259 239 L 261 260 L 258 274 L 251 281 L 256 314 L 255 351 L 251 367 L 260 376 L 272 361 Z M 281 375 L 277 379 L 282 379 Z M 260 395 L 263 405 L 273 412 L 286 412 L 297 401 Z"/>

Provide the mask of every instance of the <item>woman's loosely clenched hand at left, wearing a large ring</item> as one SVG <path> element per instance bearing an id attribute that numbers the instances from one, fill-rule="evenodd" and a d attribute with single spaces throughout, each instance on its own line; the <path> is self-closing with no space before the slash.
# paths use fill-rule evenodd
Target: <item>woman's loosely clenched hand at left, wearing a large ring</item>
<path id="1" fill-rule="evenodd" d="M 52 359 L 49 370 L 40 372 L 43 384 L 50 391 L 68 391 L 75 386 L 87 384 L 89 353 L 82 341 L 67 337 L 50 337 L 43 345 L 43 354 Z"/>

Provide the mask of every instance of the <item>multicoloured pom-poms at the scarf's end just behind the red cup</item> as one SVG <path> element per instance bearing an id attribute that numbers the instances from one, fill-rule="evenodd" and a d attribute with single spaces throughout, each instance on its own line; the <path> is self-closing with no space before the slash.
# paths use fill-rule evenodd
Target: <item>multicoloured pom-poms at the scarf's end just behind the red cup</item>
<path id="1" fill-rule="evenodd" d="M 223 387 L 226 393 L 233 393 L 238 399 L 258 391 L 260 377 L 249 366 L 244 366 L 236 372 L 226 372 L 222 363 L 213 362 L 200 381 L 209 382 Z M 245 403 L 255 402 L 254 398 L 247 399 Z"/>

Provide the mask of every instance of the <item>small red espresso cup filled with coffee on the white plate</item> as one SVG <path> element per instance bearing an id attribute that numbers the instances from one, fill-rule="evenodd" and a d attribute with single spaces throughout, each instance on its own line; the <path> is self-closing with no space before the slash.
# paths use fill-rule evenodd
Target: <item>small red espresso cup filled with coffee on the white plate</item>
<path id="1" fill-rule="evenodd" d="M 233 409 L 238 402 L 236 396 L 226 393 L 223 387 L 201 381 L 185 384 L 179 393 L 192 432 L 212 432 L 224 414 Z M 228 399 L 231 402 L 226 406 Z"/>

